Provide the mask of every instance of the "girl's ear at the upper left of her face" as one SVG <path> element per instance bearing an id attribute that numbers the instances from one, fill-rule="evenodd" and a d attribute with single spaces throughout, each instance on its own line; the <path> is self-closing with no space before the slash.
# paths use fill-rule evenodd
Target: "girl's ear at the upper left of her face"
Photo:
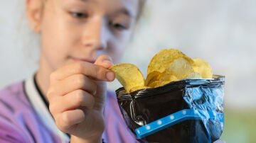
<path id="1" fill-rule="evenodd" d="M 35 33 L 41 32 L 43 4 L 41 0 L 26 0 L 28 24 Z"/>

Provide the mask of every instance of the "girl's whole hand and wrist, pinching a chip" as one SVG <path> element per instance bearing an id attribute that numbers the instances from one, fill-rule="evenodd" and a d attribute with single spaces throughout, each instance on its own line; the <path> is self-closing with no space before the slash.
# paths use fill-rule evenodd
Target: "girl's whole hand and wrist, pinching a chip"
<path id="1" fill-rule="evenodd" d="M 50 75 L 50 113 L 57 127 L 71 135 L 71 142 L 101 142 L 105 81 L 114 80 L 111 66 L 110 57 L 100 56 L 95 64 L 75 62 Z"/>

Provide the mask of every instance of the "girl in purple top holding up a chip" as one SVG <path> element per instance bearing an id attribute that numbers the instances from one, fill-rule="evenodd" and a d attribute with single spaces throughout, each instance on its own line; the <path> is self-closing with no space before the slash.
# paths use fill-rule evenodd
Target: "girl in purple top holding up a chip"
<path id="1" fill-rule="evenodd" d="M 0 91 L 0 142 L 138 142 L 108 70 L 122 57 L 144 0 L 26 0 L 41 35 L 36 74 Z"/>

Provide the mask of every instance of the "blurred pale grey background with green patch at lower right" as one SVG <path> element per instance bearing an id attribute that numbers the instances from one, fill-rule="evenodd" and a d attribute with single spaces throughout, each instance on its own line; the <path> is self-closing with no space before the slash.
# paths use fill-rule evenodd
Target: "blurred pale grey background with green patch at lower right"
<path id="1" fill-rule="evenodd" d="M 0 88 L 30 77 L 38 40 L 28 30 L 24 1 L 0 0 Z M 151 57 L 167 47 L 209 62 L 225 75 L 225 142 L 256 142 L 256 1 L 148 0 L 122 62 L 146 74 Z M 113 90 L 121 85 L 109 84 Z"/>

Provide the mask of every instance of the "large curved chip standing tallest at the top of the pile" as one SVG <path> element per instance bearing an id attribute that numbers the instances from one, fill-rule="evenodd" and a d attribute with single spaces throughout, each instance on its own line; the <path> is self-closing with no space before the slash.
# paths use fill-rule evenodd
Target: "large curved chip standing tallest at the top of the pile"
<path id="1" fill-rule="evenodd" d="M 164 49 L 154 55 L 154 57 L 151 59 L 147 73 L 149 74 L 152 71 L 159 71 L 163 73 L 167 68 L 169 68 L 169 65 L 174 62 L 175 59 L 180 57 L 187 59 L 188 62 L 193 64 L 193 60 L 190 57 L 184 55 L 181 51 L 176 49 Z"/>

